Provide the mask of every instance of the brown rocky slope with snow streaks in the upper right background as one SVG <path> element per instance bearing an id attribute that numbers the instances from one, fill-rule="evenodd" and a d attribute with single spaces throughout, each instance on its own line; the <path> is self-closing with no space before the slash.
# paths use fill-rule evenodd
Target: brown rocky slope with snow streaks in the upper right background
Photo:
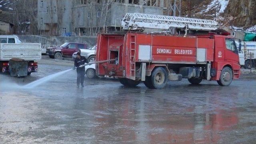
<path id="1" fill-rule="evenodd" d="M 182 15 L 256 32 L 256 0 L 182 0 Z"/>

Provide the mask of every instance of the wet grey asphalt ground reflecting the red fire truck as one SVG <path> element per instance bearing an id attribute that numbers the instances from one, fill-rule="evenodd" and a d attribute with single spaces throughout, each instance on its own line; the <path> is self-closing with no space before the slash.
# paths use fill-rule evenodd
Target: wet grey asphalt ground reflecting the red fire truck
<path id="1" fill-rule="evenodd" d="M 125 88 L 110 78 L 76 88 L 70 71 L 33 89 L 20 86 L 72 68 L 44 58 L 26 78 L 0 75 L 0 143 L 256 143 L 256 81 L 162 90 Z"/>

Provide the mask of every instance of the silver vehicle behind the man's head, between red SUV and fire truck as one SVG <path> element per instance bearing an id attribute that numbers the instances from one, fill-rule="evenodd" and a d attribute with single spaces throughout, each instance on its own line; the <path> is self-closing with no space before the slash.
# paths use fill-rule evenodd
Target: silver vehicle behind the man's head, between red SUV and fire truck
<path id="1" fill-rule="evenodd" d="M 95 53 L 96 53 L 97 45 L 93 46 L 92 48 L 87 49 L 80 49 L 81 56 L 84 56 L 88 62 L 95 62 Z M 76 58 L 77 52 L 72 55 L 72 58 Z"/>

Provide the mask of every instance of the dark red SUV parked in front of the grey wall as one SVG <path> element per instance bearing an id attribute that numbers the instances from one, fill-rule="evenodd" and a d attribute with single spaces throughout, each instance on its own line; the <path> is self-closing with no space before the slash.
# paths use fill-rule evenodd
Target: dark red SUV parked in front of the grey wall
<path id="1" fill-rule="evenodd" d="M 60 47 L 47 48 L 46 54 L 50 58 L 62 59 L 62 57 L 72 57 L 72 54 L 78 52 L 79 49 L 87 49 L 87 44 L 66 42 Z"/>

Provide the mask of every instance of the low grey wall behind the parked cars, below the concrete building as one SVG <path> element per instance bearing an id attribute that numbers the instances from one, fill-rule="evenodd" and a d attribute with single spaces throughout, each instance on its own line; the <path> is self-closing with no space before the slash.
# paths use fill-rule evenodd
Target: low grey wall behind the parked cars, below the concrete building
<path id="1" fill-rule="evenodd" d="M 95 37 L 84 37 L 84 36 L 38 36 L 38 35 L 18 35 L 22 42 L 41 43 L 43 44 L 55 44 L 62 45 L 65 42 L 80 42 L 85 43 L 89 47 L 96 44 Z"/>

